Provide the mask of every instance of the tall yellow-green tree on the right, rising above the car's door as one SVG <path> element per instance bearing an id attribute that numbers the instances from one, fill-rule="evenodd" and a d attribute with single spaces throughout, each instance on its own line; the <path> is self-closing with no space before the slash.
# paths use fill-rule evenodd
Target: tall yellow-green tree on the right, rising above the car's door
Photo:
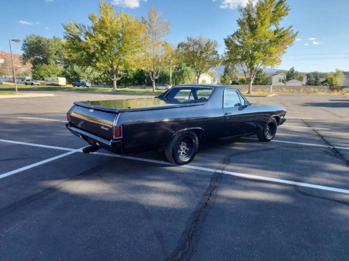
<path id="1" fill-rule="evenodd" d="M 280 26 L 289 10 L 286 0 L 258 0 L 255 7 L 248 0 L 246 7 L 239 8 L 239 28 L 224 39 L 224 57 L 245 73 L 246 81 L 250 78 L 248 93 L 252 92 L 258 69 L 280 64 L 282 55 L 298 34 L 292 26 Z"/>

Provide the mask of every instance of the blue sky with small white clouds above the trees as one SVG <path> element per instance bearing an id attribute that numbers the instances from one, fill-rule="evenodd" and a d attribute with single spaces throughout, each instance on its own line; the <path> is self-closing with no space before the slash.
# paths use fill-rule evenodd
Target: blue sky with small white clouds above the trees
<path id="1" fill-rule="evenodd" d="M 147 16 L 155 5 L 171 22 L 168 41 L 177 44 L 187 35 L 216 39 L 224 51 L 223 38 L 237 29 L 237 5 L 245 0 L 113 0 L 116 11 Z M 348 0 L 288 0 L 291 7 L 282 25 L 299 31 L 298 41 L 283 56 L 280 69 L 328 72 L 339 68 L 349 71 Z M 98 13 L 97 0 L 17 0 L 0 1 L 0 50 L 9 52 L 8 39 L 23 39 L 35 33 L 45 37 L 62 37 L 61 23 L 76 19 L 89 23 L 89 12 Z M 13 44 L 21 54 L 21 44 Z"/>

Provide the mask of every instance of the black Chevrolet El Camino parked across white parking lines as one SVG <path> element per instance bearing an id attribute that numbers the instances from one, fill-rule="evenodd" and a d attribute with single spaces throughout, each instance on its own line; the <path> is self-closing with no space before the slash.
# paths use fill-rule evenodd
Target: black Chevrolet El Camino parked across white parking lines
<path id="1" fill-rule="evenodd" d="M 229 86 L 181 85 L 153 98 L 75 102 L 66 126 L 90 144 L 85 153 L 101 148 L 117 154 L 157 149 L 183 165 L 206 139 L 257 134 L 260 141 L 270 141 L 285 114 L 280 106 L 251 104 Z"/>

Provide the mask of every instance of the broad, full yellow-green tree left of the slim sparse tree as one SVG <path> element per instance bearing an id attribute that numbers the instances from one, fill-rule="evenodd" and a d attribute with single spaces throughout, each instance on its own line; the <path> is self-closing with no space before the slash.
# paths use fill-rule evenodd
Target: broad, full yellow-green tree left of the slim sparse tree
<path id="1" fill-rule="evenodd" d="M 116 13 L 114 6 L 104 1 L 99 2 L 99 13 L 89 14 L 90 27 L 70 21 L 63 24 L 64 38 L 75 60 L 104 71 L 116 89 L 122 72 L 136 68 L 134 56 L 140 52 L 145 25 L 123 11 Z"/>

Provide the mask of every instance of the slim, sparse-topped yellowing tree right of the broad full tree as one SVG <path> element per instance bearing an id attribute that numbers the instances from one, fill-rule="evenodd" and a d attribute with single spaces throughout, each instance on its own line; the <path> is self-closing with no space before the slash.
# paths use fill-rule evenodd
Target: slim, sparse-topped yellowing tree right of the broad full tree
<path id="1" fill-rule="evenodd" d="M 143 35 L 143 55 L 140 57 L 140 63 L 148 72 L 153 83 L 153 92 L 155 92 L 155 80 L 165 69 L 169 68 L 174 50 L 165 41 L 170 33 L 170 22 L 163 19 L 154 6 L 148 12 L 146 26 L 147 31 Z"/>

